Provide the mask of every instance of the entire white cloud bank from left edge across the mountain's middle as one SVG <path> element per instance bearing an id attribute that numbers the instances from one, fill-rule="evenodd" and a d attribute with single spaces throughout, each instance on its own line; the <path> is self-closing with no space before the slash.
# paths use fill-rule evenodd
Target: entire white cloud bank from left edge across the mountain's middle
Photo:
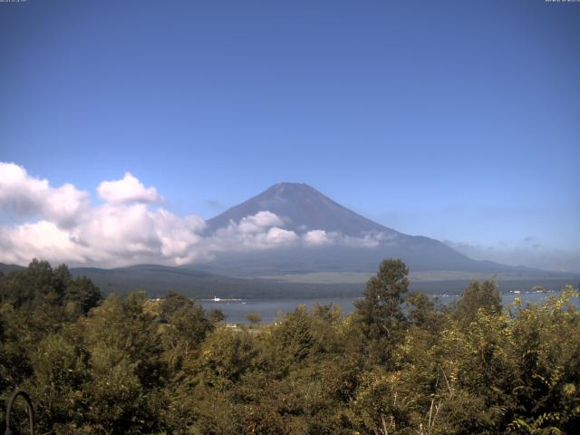
<path id="1" fill-rule="evenodd" d="M 0 262 L 26 265 L 34 257 L 73 266 L 184 265 L 220 252 L 277 247 L 376 247 L 382 235 L 346 237 L 284 228 L 283 217 L 260 211 L 208 234 L 203 218 L 162 207 L 157 189 L 127 172 L 97 187 L 101 202 L 73 184 L 54 188 L 14 163 L 0 162 Z"/>

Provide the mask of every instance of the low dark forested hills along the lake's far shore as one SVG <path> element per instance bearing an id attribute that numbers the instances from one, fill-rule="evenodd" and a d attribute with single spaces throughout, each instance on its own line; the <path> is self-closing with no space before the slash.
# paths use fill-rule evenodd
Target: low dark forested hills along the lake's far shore
<path id="1" fill-rule="evenodd" d="M 53 265 L 56 266 L 56 265 Z M 22 266 L 0 263 L 0 271 L 5 275 L 15 270 L 23 270 Z M 286 279 L 256 279 L 239 278 L 212 274 L 184 267 L 140 265 L 102 269 L 98 267 L 72 267 L 75 276 L 88 276 L 98 285 L 103 295 L 128 294 L 135 290 L 144 290 L 150 297 L 162 296 L 168 290 L 177 291 L 198 299 L 220 298 L 243 299 L 289 299 L 289 298 L 324 298 L 353 297 L 362 295 L 365 279 L 360 275 L 357 279 L 344 280 L 340 274 L 333 279 L 332 284 L 321 282 L 292 282 Z M 332 275 L 332 274 L 331 274 Z M 299 275 L 295 275 L 300 277 Z M 360 278 L 360 279 L 359 279 Z M 420 274 L 413 278 L 411 274 L 411 289 L 428 294 L 459 294 L 469 284 L 471 278 L 458 279 L 453 274 Z M 482 275 L 488 278 L 488 275 Z M 502 292 L 511 290 L 527 291 L 533 285 L 544 285 L 546 290 L 558 290 L 566 284 L 577 283 L 579 276 L 565 275 L 509 275 L 499 277 L 499 289 Z"/>

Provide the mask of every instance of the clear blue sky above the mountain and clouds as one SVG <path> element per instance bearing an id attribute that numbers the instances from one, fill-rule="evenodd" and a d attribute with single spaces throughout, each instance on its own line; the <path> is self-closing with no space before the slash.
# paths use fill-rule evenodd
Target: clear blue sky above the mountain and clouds
<path id="1" fill-rule="evenodd" d="M 130 171 L 203 218 L 305 182 L 580 266 L 578 41 L 580 4 L 543 0 L 0 4 L 0 161 L 90 192 Z"/>

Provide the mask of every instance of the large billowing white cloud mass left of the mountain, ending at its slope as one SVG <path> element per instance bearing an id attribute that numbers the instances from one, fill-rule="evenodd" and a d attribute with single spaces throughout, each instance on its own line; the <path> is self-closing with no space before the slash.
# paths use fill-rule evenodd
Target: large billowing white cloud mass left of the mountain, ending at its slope
<path id="1" fill-rule="evenodd" d="M 27 264 L 39 257 L 125 266 L 183 264 L 209 256 L 198 234 L 204 220 L 150 208 L 160 195 L 131 174 L 102 182 L 99 194 L 106 202 L 92 207 L 89 194 L 72 184 L 53 188 L 20 166 L 0 163 L 0 210 L 17 221 L 0 227 L 0 261 Z"/>

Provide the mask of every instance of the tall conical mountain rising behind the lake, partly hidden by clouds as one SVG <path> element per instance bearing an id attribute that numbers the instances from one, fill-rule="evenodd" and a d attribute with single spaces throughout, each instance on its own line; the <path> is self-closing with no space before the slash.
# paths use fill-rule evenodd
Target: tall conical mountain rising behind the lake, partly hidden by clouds
<path id="1" fill-rule="evenodd" d="M 294 247 L 245 253 L 220 253 L 207 265 L 196 268 L 226 275 L 277 275 L 320 270 L 374 271 L 382 259 L 400 257 L 411 270 L 457 270 L 472 272 L 525 271 L 527 267 L 477 261 L 459 254 L 430 237 L 409 236 L 364 218 L 305 184 L 275 184 L 254 198 L 208 220 L 211 231 L 260 211 L 283 218 L 285 229 L 298 234 L 313 229 L 363 237 L 381 233 L 377 247 Z"/>

